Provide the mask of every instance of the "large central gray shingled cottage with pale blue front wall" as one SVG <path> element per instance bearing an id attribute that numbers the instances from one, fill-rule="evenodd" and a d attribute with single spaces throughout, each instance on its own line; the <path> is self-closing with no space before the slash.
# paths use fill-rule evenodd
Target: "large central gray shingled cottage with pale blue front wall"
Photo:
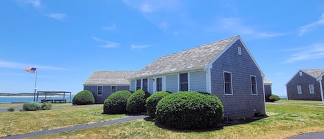
<path id="1" fill-rule="evenodd" d="M 240 36 L 166 55 L 138 71 L 131 91 L 202 91 L 217 95 L 225 118 L 265 115 L 263 71 Z"/>

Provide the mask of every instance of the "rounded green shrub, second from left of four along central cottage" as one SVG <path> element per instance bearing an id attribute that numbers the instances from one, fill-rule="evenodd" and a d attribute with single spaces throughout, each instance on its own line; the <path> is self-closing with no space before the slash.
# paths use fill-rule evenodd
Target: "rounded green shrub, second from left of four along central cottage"
<path id="1" fill-rule="evenodd" d="M 142 89 L 135 91 L 127 100 L 126 111 L 134 114 L 146 111 L 145 100 L 149 96 L 150 94 Z"/>

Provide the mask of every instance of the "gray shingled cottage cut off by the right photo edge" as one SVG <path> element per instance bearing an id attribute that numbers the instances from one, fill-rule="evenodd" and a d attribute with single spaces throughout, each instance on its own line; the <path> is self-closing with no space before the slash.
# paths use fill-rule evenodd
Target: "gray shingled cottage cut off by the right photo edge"
<path id="1" fill-rule="evenodd" d="M 299 70 L 286 84 L 287 99 L 321 101 L 323 97 L 323 86 L 321 89 L 323 74 L 324 69 Z"/>

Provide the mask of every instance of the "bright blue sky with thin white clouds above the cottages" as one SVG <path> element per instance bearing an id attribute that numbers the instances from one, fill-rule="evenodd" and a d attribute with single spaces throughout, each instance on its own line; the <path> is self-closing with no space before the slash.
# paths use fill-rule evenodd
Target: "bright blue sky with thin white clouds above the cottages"
<path id="1" fill-rule="evenodd" d="M 240 35 L 273 93 L 324 68 L 324 2 L 1 1 L 0 92 L 82 91 L 93 71 L 137 71 L 158 57 Z"/>

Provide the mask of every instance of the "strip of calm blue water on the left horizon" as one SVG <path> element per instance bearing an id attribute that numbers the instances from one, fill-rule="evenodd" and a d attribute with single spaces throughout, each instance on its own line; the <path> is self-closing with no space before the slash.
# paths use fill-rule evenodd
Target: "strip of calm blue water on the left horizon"
<path id="1" fill-rule="evenodd" d="M 73 100 L 74 95 L 71 96 L 71 102 Z M 35 101 L 36 101 L 37 96 L 35 97 Z M 39 97 L 38 98 L 38 102 L 41 102 L 41 100 L 43 100 L 44 97 Z M 61 97 L 46 97 L 47 100 L 63 100 L 63 95 Z M 70 102 L 70 95 L 66 95 L 65 96 L 66 102 Z M 34 97 L 28 97 L 28 98 L 19 98 L 19 97 L 6 97 L 6 98 L 2 98 L 0 97 L 0 103 L 11 103 L 11 102 L 33 102 L 34 101 Z"/>

